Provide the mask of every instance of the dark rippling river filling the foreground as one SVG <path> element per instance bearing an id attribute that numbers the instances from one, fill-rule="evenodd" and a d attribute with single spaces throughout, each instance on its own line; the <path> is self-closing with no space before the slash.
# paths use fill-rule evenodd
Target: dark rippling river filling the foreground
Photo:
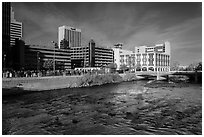
<path id="1" fill-rule="evenodd" d="M 3 96 L 3 134 L 202 134 L 202 86 L 147 81 Z"/>

